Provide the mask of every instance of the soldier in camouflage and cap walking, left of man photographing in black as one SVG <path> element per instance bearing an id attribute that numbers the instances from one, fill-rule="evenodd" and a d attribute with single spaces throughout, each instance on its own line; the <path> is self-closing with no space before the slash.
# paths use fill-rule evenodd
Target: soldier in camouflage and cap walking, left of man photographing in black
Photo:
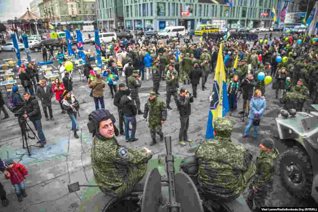
<path id="1" fill-rule="evenodd" d="M 143 118 L 147 120 L 149 111 L 149 129 L 152 138 L 150 146 L 157 143 L 156 133 L 160 135 L 160 140 L 163 141 L 162 124 L 167 120 L 167 107 L 164 101 L 157 98 L 156 92 L 150 91 L 149 99 L 145 104 Z"/>

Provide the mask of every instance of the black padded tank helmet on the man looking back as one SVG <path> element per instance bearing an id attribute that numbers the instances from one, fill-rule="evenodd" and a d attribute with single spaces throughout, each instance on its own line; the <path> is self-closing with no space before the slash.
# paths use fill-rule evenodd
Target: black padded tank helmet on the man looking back
<path id="1" fill-rule="evenodd" d="M 101 121 L 110 119 L 113 122 L 113 125 L 116 122 L 116 119 L 114 117 L 113 114 L 111 114 L 108 110 L 106 109 L 97 109 L 95 111 L 93 111 L 92 113 L 90 113 L 88 115 L 88 120 L 89 122 L 87 123 L 87 127 L 90 133 L 93 133 L 93 137 L 95 136 L 95 134 L 98 135 L 98 137 L 102 137 L 99 134 L 99 124 Z M 114 132 L 115 135 L 118 136 L 119 135 L 119 131 L 117 129 L 117 127 L 114 125 Z"/>

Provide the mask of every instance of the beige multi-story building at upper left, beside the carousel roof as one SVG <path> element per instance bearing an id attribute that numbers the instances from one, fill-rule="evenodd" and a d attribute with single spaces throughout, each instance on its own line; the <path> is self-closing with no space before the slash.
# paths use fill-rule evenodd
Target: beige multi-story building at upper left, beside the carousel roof
<path id="1" fill-rule="evenodd" d="M 38 5 L 41 18 L 57 29 L 83 29 L 95 23 L 95 0 L 44 0 Z"/>

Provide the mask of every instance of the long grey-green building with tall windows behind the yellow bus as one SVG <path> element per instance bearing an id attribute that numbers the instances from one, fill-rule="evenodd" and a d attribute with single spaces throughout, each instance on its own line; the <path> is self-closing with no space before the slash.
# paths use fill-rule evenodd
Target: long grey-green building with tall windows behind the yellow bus
<path id="1" fill-rule="evenodd" d="M 219 2 L 219 4 L 216 4 Z M 223 4 L 222 4 L 223 2 Z M 123 0 L 124 25 L 130 30 L 161 30 L 166 26 L 184 25 L 194 29 L 197 24 L 227 24 L 230 28 L 269 27 L 273 7 L 279 16 L 279 5 L 290 0 Z M 107 16 L 105 14 L 100 16 Z"/>

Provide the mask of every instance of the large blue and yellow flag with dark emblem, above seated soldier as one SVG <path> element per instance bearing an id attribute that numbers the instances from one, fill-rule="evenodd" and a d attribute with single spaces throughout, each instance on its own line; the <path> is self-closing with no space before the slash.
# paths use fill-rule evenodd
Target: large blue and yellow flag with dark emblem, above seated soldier
<path id="1" fill-rule="evenodd" d="M 206 139 L 214 138 L 214 120 L 224 117 L 229 111 L 229 100 L 227 98 L 226 78 L 222 52 L 223 44 L 220 45 L 217 66 L 215 68 L 213 90 L 210 96 L 209 119 L 206 127 Z"/>

